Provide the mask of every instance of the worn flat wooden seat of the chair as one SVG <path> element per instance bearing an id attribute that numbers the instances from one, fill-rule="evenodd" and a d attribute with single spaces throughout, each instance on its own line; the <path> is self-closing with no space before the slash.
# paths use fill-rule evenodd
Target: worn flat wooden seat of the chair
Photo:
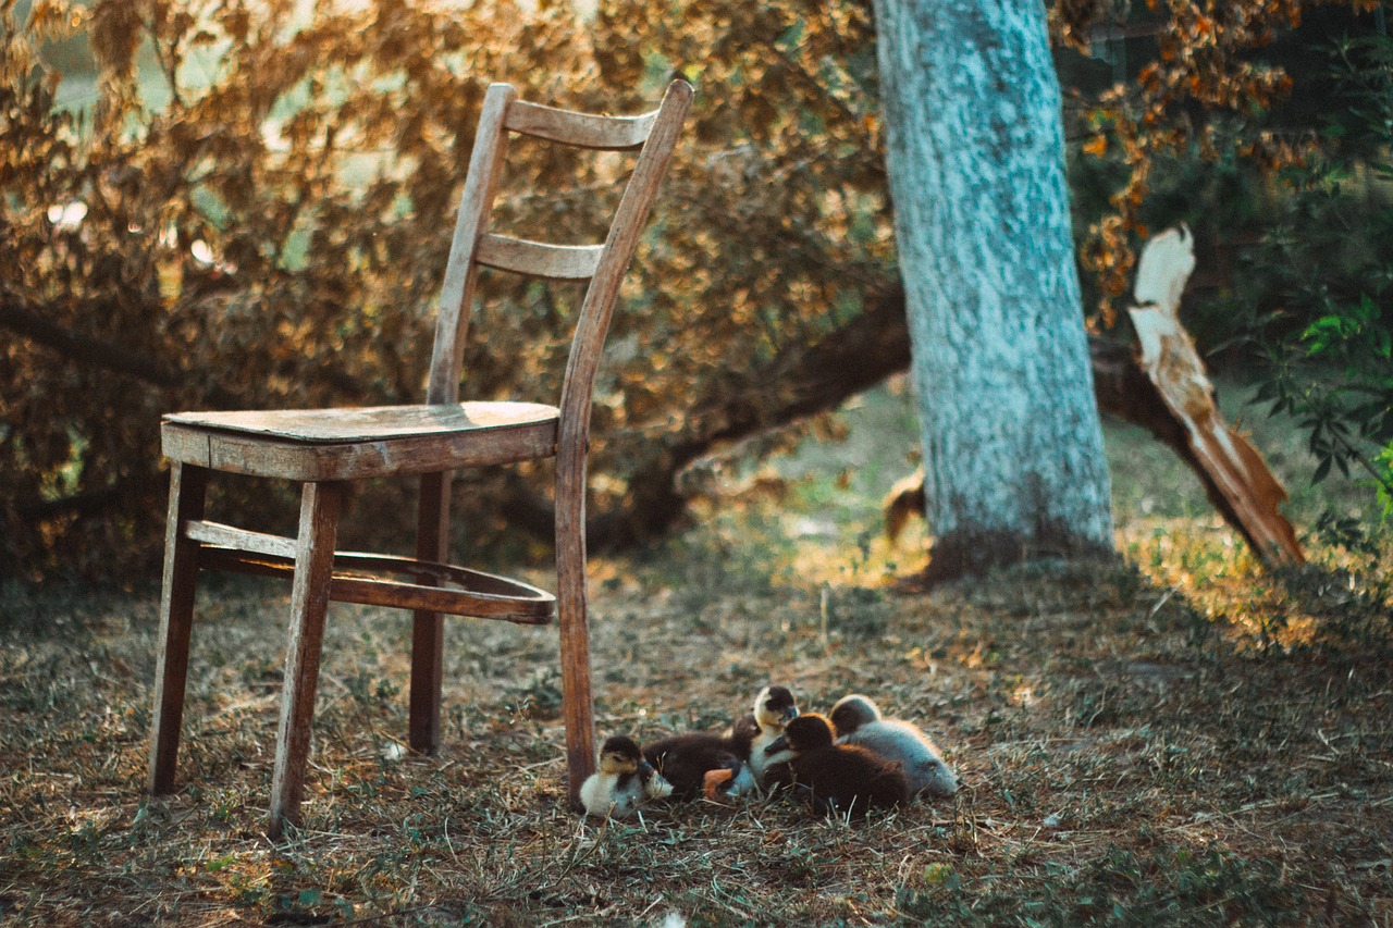
<path id="1" fill-rule="evenodd" d="M 559 421 L 554 405 L 471 401 L 174 412 L 163 418 L 160 433 L 173 461 L 308 482 L 552 457 Z"/>

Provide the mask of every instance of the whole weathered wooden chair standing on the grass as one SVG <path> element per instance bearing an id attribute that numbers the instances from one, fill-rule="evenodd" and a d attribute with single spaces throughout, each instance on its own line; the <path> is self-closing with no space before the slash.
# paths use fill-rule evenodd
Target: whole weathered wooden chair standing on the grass
<path id="1" fill-rule="evenodd" d="M 570 796 L 573 805 L 577 803 L 579 786 L 595 764 L 585 617 L 585 465 L 592 386 L 620 283 L 667 170 L 691 96 L 691 86 L 674 81 L 657 110 L 610 117 L 525 103 L 506 84 L 489 88 L 444 272 L 425 404 L 180 412 L 163 418 L 163 450 L 171 471 L 150 794 L 169 793 L 174 786 L 194 589 L 199 570 L 216 569 L 291 578 L 272 782 L 272 837 L 280 836 L 284 822 L 299 821 L 330 601 L 415 612 L 410 743 L 423 752 L 435 751 L 440 741 L 443 614 L 531 624 L 543 624 L 556 614 Z M 577 148 L 639 150 L 605 244 L 552 245 L 489 233 L 508 132 Z M 467 314 L 479 265 L 547 279 L 589 280 L 560 405 L 460 401 Z M 449 564 L 451 472 L 546 457 L 556 457 L 556 595 Z M 301 482 L 298 535 L 283 538 L 206 521 L 203 500 L 212 471 Z M 404 474 L 421 477 L 417 556 L 336 552 L 345 482 Z"/>

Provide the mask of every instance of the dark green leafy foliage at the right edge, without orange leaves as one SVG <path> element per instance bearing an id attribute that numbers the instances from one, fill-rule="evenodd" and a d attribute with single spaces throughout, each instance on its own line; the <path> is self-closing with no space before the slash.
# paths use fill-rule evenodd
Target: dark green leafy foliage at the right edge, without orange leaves
<path id="1" fill-rule="evenodd" d="M 1283 215 L 1250 259 L 1265 286 L 1250 295 L 1245 334 L 1265 362 L 1255 400 L 1298 419 L 1312 479 L 1358 468 L 1393 516 L 1393 39 L 1347 43 L 1337 61 L 1361 106 L 1329 131 L 1362 135 L 1383 160 L 1361 170 L 1312 157 L 1282 173 Z"/>

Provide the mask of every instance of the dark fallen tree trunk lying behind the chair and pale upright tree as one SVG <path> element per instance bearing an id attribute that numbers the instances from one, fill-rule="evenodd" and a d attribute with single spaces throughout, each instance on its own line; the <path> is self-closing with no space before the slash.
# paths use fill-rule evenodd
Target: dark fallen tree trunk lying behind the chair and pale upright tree
<path id="1" fill-rule="evenodd" d="M 24 323 L 26 334 L 43 336 L 32 329 L 29 316 L 18 318 L 6 307 L 6 319 L 0 325 Z M 1142 322 L 1142 326 L 1148 325 Z M 52 333 L 50 333 L 52 334 Z M 56 336 L 54 336 L 56 337 Z M 45 339 L 40 339 L 45 340 Z M 53 341 L 52 339 L 49 341 Z M 79 348 L 74 353 L 74 344 Z M 78 359 L 110 366 L 123 373 L 132 373 L 152 383 L 177 379 L 178 375 L 145 358 L 135 355 L 91 357 L 86 343 L 72 339 L 57 339 L 53 347 L 74 353 Z M 1192 351 L 1192 344 L 1190 346 Z M 1251 504 L 1243 503 L 1233 489 L 1234 468 L 1219 468 L 1215 461 L 1215 443 L 1195 443 L 1191 431 L 1177 418 L 1146 371 L 1138 365 L 1135 351 L 1120 341 L 1098 336 L 1089 339 L 1089 355 L 1094 371 L 1094 389 L 1098 408 L 1123 421 L 1145 428 L 1163 442 L 1199 477 L 1211 503 L 1224 520 L 1233 525 L 1269 563 L 1300 563 L 1300 548 L 1295 548 L 1290 525 L 1286 532 L 1277 528 L 1262 528 L 1255 532 L 1247 511 Z M 135 358 L 132 362 L 132 357 Z M 1197 358 L 1198 362 L 1198 358 Z M 688 428 L 669 435 L 662 454 L 651 458 L 651 465 L 632 475 L 631 492 L 616 506 L 605 511 L 592 511 L 586 520 L 589 543 L 595 549 L 614 549 L 631 545 L 644 538 L 652 538 L 671 528 L 685 513 L 687 497 L 677 488 L 677 475 L 699 457 L 713 449 L 751 438 L 759 432 L 787 425 L 798 418 L 815 415 L 836 408 L 847 399 L 859 393 L 910 365 L 910 333 L 904 315 L 904 290 L 898 281 L 887 281 L 866 297 L 865 309 L 850 323 L 830 333 L 820 341 L 808 346 L 794 346 L 783 351 L 770 364 L 747 372 L 734 386 L 730 380 L 720 392 L 703 397 L 687 414 Z M 1206 382 L 1208 383 L 1208 382 Z M 777 387 L 777 389 L 775 389 Z M 1211 387 L 1212 394 L 1212 387 Z M 1231 431 L 1229 435 L 1233 436 Z M 1240 449 L 1237 454 L 1244 463 L 1241 472 L 1252 470 L 1252 458 L 1261 456 L 1241 436 L 1229 439 L 1229 446 Z M 1201 453 L 1204 457 L 1201 457 Z M 1224 447 L 1219 442 L 1217 447 Z M 1251 450 L 1251 454 L 1241 449 Z M 1263 467 L 1263 472 L 1266 468 Z M 1270 477 L 1270 474 L 1269 474 Z M 142 489 L 162 485 L 157 471 L 137 479 Z M 1280 485 L 1266 488 L 1272 499 L 1284 499 Z M 123 485 L 124 486 L 124 485 Z M 924 514 L 922 484 L 918 488 L 900 488 L 904 517 Z M 915 497 L 912 493 L 918 493 Z M 900 492 L 897 492 L 900 493 Z M 900 495 L 903 495 L 900 493 Z M 127 497 L 124 492 L 84 493 L 64 500 L 35 503 L 24 509 L 25 518 L 53 516 L 59 511 L 79 517 L 100 517 L 104 510 Z M 546 538 L 552 534 L 552 507 L 536 492 L 535 485 L 522 479 L 511 479 L 499 496 L 506 518 L 532 534 Z M 1280 518 L 1280 514 L 1277 514 Z M 1284 523 L 1284 520 L 1283 520 Z M 1289 548 L 1290 546 L 1290 548 Z M 1275 552 L 1275 553 L 1273 553 Z M 1273 557 L 1280 560 L 1272 560 Z"/>

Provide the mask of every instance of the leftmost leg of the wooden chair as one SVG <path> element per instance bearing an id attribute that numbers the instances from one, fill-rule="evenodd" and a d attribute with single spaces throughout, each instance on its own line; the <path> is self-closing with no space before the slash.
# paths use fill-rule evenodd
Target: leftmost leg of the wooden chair
<path id="1" fill-rule="evenodd" d="M 160 594 L 160 654 L 155 669 L 155 718 L 150 723 L 150 796 L 174 789 L 188 647 L 198 581 L 198 542 L 184 536 L 184 524 L 203 517 L 208 471 L 180 464 L 170 468 L 170 507 L 164 523 L 164 584 Z"/>

